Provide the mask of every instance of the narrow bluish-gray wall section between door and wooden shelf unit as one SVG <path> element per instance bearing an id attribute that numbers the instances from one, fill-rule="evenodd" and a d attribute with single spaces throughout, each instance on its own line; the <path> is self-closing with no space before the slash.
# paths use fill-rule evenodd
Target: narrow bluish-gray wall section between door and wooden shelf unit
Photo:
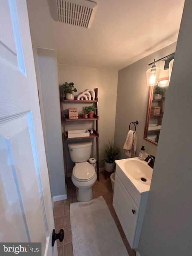
<path id="1" fill-rule="evenodd" d="M 49 171 L 51 195 L 66 194 L 58 88 L 57 55 L 55 50 L 37 48 L 40 74 L 41 116 Z M 37 72 L 36 64 L 36 73 Z M 41 98 L 42 97 L 42 98 Z"/>

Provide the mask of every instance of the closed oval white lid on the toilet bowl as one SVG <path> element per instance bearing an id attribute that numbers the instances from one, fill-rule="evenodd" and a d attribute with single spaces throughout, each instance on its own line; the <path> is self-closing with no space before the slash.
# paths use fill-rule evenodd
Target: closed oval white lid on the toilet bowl
<path id="1" fill-rule="evenodd" d="M 95 168 L 88 162 L 76 163 L 73 167 L 73 175 L 76 179 L 87 180 L 94 176 Z"/>

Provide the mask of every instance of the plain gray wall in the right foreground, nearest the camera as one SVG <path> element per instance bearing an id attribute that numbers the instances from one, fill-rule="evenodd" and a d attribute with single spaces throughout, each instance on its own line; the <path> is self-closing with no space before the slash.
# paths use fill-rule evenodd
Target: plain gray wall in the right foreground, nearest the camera
<path id="1" fill-rule="evenodd" d="M 192 254 L 192 1 L 186 0 L 142 233 L 141 256 Z"/>

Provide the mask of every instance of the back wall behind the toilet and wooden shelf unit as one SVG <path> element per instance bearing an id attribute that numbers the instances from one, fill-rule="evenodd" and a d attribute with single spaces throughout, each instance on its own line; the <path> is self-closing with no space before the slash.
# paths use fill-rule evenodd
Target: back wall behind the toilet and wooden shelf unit
<path id="1" fill-rule="evenodd" d="M 98 88 L 98 109 L 99 109 L 99 148 L 102 149 L 108 140 L 113 139 L 115 133 L 115 113 L 117 98 L 117 79 L 118 71 L 106 70 L 101 68 L 88 68 L 75 65 L 58 65 L 59 84 L 73 82 L 77 89 L 74 95 L 79 95 L 85 89 Z M 84 113 L 83 107 L 92 105 L 90 103 L 64 104 L 65 113 L 68 108 L 78 109 L 78 113 Z M 88 129 L 93 127 L 94 121 L 86 122 L 67 122 L 66 130 Z M 80 140 L 78 140 L 80 141 Z M 92 157 L 96 157 L 96 140 L 93 140 Z M 70 160 L 67 150 L 67 172 L 72 172 L 74 164 Z"/>

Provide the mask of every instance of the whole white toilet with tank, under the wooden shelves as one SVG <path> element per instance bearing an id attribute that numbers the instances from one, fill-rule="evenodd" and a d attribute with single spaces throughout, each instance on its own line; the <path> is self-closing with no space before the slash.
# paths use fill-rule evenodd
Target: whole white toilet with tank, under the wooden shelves
<path id="1" fill-rule="evenodd" d="M 91 146 L 91 141 L 68 144 L 70 158 L 75 163 L 71 179 L 76 186 L 79 202 L 93 199 L 92 186 L 97 179 L 97 174 L 95 168 L 87 162 L 91 155 Z"/>

